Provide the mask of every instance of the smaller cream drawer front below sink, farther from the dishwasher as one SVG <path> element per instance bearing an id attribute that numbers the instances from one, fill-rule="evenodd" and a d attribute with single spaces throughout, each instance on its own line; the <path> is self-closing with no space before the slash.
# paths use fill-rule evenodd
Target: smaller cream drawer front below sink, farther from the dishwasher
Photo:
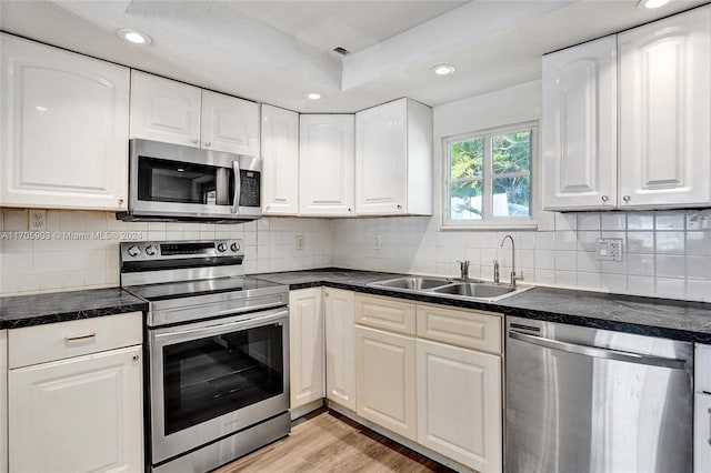
<path id="1" fill-rule="evenodd" d="M 414 304 L 389 298 L 356 296 L 356 323 L 414 336 Z"/>

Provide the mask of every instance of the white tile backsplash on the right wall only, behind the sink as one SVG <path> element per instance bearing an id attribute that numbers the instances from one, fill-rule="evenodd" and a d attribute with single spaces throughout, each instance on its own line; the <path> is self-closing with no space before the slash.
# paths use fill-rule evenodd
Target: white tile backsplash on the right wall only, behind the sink
<path id="1" fill-rule="evenodd" d="M 434 218 L 338 220 L 336 266 L 501 280 L 511 271 L 535 284 L 711 302 L 711 210 L 555 213 L 547 230 L 441 231 Z M 382 248 L 373 249 L 379 238 Z M 600 238 L 622 240 L 622 261 L 599 261 Z"/>

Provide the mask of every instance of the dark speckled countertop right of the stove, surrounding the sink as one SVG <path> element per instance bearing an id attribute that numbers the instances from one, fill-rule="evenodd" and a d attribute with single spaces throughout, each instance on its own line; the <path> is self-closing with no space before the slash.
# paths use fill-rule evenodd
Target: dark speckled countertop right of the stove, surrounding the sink
<path id="1" fill-rule="evenodd" d="M 478 309 L 527 319 L 711 343 L 711 304 L 601 292 L 533 288 L 498 302 L 477 302 L 368 286 L 403 274 L 342 269 L 253 274 L 290 289 L 324 285 L 419 302 Z"/>

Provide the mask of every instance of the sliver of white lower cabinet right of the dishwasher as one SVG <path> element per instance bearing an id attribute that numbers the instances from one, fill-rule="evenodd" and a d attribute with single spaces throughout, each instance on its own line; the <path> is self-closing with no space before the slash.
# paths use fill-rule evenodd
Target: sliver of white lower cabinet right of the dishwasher
<path id="1" fill-rule="evenodd" d="M 711 472 L 711 345 L 697 343 L 694 356 L 693 471 Z"/>

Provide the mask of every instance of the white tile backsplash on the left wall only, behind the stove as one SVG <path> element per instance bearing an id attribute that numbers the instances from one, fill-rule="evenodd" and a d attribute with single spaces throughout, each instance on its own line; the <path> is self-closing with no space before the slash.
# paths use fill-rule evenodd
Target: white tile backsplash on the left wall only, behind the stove
<path id="1" fill-rule="evenodd" d="M 113 213 L 47 211 L 42 240 L 28 238 L 28 211 L 0 209 L 0 295 L 119 285 L 119 241 L 242 239 L 247 273 L 330 264 L 332 222 L 261 219 L 239 224 L 137 223 Z M 296 249 L 303 235 L 303 250 Z"/>

